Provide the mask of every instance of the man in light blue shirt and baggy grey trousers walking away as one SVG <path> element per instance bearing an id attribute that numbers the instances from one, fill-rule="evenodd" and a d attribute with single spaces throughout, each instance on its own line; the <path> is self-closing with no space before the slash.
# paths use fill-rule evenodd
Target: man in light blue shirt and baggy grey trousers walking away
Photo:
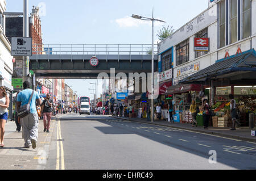
<path id="1" fill-rule="evenodd" d="M 28 81 L 23 82 L 23 89 L 24 90 L 21 91 L 17 97 L 17 110 L 19 110 L 20 106 L 28 104 L 33 92 L 33 90 L 30 89 L 30 82 Z M 38 141 L 38 112 L 36 111 L 35 102 L 38 106 L 42 103 L 42 100 L 36 91 L 34 91 L 30 102 L 30 113 L 20 119 L 25 142 L 24 148 L 30 148 L 32 145 L 32 148 L 35 149 L 36 142 Z"/>

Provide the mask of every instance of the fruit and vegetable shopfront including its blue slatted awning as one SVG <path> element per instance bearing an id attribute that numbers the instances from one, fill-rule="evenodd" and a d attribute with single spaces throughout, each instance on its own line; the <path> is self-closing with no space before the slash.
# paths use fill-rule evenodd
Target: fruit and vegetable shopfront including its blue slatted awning
<path id="1" fill-rule="evenodd" d="M 238 120 L 242 126 L 249 125 L 249 115 L 256 115 L 256 53 L 254 49 L 216 61 L 215 64 L 195 73 L 180 83 L 208 85 L 210 106 L 216 113 L 214 127 L 230 127 L 229 94 L 234 95 L 238 106 Z M 217 124 L 219 120 L 225 124 Z M 256 116 L 254 116 L 255 119 Z M 213 121 L 214 122 L 214 121 Z"/>

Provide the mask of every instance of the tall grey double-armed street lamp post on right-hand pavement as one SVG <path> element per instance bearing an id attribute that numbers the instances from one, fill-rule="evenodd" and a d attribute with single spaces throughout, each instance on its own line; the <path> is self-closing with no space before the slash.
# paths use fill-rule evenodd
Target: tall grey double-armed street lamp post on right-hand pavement
<path id="1" fill-rule="evenodd" d="M 151 20 L 152 22 L 152 61 L 151 61 L 151 67 L 152 67 L 152 75 L 151 75 L 151 122 L 154 122 L 154 99 L 153 99 L 153 96 L 154 96 L 154 21 L 158 21 L 158 22 L 163 22 L 163 23 L 166 23 L 164 22 L 163 20 L 160 20 L 160 19 L 155 19 L 154 18 L 154 10 L 152 12 L 152 18 L 146 18 L 146 17 L 143 17 L 143 16 L 139 16 L 139 15 L 131 15 L 132 18 L 135 18 L 135 19 L 141 19 L 141 20 Z"/>

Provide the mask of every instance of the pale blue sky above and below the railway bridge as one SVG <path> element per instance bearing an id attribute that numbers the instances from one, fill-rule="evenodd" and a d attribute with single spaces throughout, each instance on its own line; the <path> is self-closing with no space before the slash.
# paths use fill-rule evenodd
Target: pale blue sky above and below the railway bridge
<path id="1" fill-rule="evenodd" d="M 179 29 L 200 12 L 208 8 L 208 0 L 29 0 L 32 6 L 42 7 L 43 43 L 114 43 L 150 44 L 151 23 L 130 18 L 131 14 L 151 17 L 167 23 L 155 23 L 156 33 L 162 26 Z M 7 0 L 7 10 L 23 11 L 23 0 Z M 96 80 L 66 80 L 78 94 L 92 92 Z M 83 85 L 83 87 L 81 87 Z M 102 92 L 101 85 L 98 95 Z M 92 94 L 90 94 L 92 96 Z"/>

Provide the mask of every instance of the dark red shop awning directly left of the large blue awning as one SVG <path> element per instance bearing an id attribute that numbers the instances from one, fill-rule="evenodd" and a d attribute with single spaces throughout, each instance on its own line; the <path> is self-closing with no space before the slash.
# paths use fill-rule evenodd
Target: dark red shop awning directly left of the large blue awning
<path id="1" fill-rule="evenodd" d="M 199 84 L 180 84 L 171 86 L 167 89 L 166 95 L 177 94 L 188 91 L 200 91 L 201 85 Z"/>

